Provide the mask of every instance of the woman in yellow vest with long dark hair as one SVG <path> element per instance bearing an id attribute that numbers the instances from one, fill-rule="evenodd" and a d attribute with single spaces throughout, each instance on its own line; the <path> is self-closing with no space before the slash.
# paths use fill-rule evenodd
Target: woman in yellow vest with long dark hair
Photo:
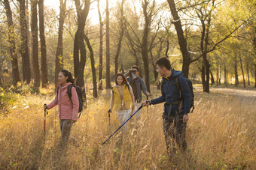
<path id="1" fill-rule="evenodd" d="M 112 112 L 113 107 L 117 111 L 120 124 L 123 124 L 130 117 L 132 110 L 135 109 L 133 89 L 128 84 L 123 73 L 117 73 L 115 77 L 115 85 L 112 88 L 111 105 L 108 113 Z M 126 130 L 127 125 L 124 124 L 123 126 Z"/>

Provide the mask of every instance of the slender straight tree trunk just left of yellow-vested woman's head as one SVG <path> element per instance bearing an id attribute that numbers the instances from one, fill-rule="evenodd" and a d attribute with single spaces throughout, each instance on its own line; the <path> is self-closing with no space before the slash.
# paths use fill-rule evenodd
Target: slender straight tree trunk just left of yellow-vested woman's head
<path id="1" fill-rule="evenodd" d="M 106 88 L 111 88 L 110 84 L 110 53 L 109 53 L 109 10 L 108 0 L 106 0 Z"/>

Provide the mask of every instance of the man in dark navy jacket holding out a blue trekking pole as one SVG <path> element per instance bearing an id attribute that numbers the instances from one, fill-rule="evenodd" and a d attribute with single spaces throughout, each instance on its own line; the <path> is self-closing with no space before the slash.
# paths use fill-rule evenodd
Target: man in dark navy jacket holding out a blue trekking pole
<path id="1" fill-rule="evenodd" d="M 157 72 L 162 77 L 162 96 L 151 101 L 145 101 L 142 106 L 151 104 L 164 104 L 163 112 L 163 133 L 166 139 L 166 148 L 169 155 L 175 154 L 175 141 L 182 151 L 186 150 L 187 142 L 186 127 L 188 121 L 188 113 L 190 112 L 190 91 L 186 79 L 182 76 L 181 71 L 175 71 L 171 68 L 168 58 L 159 58 L 156 62 Z M 175 78 L 181 87 L 181 97 Z"/>

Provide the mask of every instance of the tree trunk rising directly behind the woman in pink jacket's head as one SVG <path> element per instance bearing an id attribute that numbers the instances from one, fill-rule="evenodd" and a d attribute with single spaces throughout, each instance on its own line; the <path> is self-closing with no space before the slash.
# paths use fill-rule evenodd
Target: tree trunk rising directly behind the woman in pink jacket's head
<path id="1" fill-rule="evenodd" d="M 55 88 L 58 82 L 59 72 L 63 70 L 63 26 L 66 19 L 66 0 L 59 0 L 59 30 L 58 30 L 58 46 L 55 56 Z M 74 47 L 75 50 L 75 47 Z M 75 61 L 75 58 L 74 58 Z M 75 74 L 75 73 L 74 73 Z M 75 75 L 76 77 L 76 75 Z"/>

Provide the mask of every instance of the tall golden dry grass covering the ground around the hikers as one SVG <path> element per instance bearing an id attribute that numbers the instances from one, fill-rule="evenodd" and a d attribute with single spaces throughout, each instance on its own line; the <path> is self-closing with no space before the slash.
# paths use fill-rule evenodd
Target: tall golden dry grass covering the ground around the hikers
<path id="1" fill-rule="evenodd" d="M 44 133 L 43 104 L 53 100 L 52 92 L 0 91 L 0 169 L 256 169 L 256 95 L 251 95 L 256 91 L 207 94 L 198 88 L 196 109 L 187 123 L 189 149 L 171 160 L 164 143 L 163 104 L 150 106 L 149 118 L 143 108 L 138 130 L 132 118 L 125 136 L 120 130 L 102 145 L 119 127 L 113 112 L 109 132 L 109 91 L 88 100 L 72 128 L 79 146 L 70 144 L 66 156 L 61 156 L 57 106 L 48 111 Z"/>

